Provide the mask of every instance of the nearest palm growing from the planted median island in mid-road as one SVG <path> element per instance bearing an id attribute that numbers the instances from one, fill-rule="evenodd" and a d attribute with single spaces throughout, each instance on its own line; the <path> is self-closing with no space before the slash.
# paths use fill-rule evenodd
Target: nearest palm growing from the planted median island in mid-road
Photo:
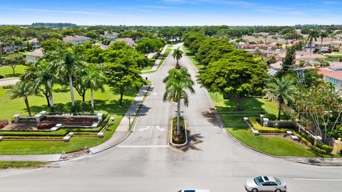
<path id="1" fill-rule="evenodd" d="M 169 75 L 164 79 L 166 91 L 162 100 L 164 102 L 177 102 L 177 136 L 180 136 L 180 100 L 184 100 L 184 105 L 189 105 L 189 97 L 185 90 L 195 93 L 192 87 L 195 82 L 186 68 L 171 69 Z"/>

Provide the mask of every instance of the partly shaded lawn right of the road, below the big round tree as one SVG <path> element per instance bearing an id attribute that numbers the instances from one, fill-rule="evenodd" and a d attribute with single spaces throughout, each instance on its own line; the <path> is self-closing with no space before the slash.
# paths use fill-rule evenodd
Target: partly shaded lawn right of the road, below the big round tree
<path id="1" fill-rule="evenodd" d="M 317 156 L 313 151 L 279 137 L 254 136 L 243 117 L 259 117 L 259 114 L 265 112 L 276 114 L 277 107 L 274 103 L 264 99 L 248 98 L 242 100 L 242 111 L 234 112 L 236 108 L 234 100 L 223 100 L 221 95 L 217 95 L 216 102 L 215 95 L 210 94 L 210 96 L 227 132 L 240 142 L 274 156 Z"/>

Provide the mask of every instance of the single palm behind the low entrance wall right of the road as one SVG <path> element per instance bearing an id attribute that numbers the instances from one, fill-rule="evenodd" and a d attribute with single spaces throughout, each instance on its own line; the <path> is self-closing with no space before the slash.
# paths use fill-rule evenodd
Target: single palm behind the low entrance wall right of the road
<path id="1" fill-rule="evenodd" d="M 290 76 L 284 76 L 280 79 L 275 78 L 267 87 L 268 88 L 264 89 L 263 92 L 278 99 L 278 120 L 280 120 L 281 105 L 283 105 L 283 103 L 287 105 L 289 101 L 294 101 L 294 95 L 296 94 L 294 80 Z"/>

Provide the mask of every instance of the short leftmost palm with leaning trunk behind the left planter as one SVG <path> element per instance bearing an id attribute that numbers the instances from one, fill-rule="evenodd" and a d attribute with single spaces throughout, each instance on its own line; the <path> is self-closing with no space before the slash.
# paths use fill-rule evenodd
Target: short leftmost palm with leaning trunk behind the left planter
<path id="1" fill-rule="evenodd" d="M 28 96 L 37 94 L 37 92 L 35 92 L 35 90 L 33 89 L 32 83 L 26 81 L 17 82 L 16 85 L 14 87 L 11 87 L 11 89 L 8 91 L 8 94 L 12 100 L 23 97 L 26 104 L 28 116 L 31 117 L 30 105 L 28 104 Z"/>

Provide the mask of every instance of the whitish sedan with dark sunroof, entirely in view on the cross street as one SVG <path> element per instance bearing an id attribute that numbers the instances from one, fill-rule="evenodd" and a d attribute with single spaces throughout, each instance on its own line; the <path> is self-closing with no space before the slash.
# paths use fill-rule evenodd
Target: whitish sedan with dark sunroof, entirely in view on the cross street
<path id="1" fill-rule="evenodd" d="M 258 176 L 256 178 L 250 178 L 244 183 L 246 191 L 258 192 L 258 191 L 274 191 L 284 192 L 286 191 L 286 183 L 281 178 L 273 176 Z"/>

